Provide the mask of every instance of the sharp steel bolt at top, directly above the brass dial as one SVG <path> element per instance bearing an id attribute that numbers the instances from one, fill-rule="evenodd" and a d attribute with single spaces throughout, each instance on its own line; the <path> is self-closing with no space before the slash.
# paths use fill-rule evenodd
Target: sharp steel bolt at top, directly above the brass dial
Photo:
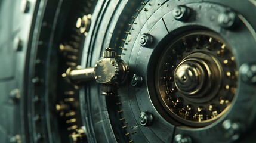
<path id="1" fill-rule="evenodd" d="M 175 18 L 175 20 L 178 21 L 187 21 L 190 17 L 191 10 L 189 7 L 186 7 L 185 5 L 178 5 L 178 7 L 175 7 L 172 11 L 172 16 Z"/>

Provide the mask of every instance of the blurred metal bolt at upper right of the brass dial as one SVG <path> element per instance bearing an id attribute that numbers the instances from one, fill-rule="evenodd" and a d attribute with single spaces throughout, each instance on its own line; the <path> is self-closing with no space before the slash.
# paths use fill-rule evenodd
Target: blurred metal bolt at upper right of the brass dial
<path id="1" fill-rule="evenodd" d="M 235 12 L 226 10 L 218 15 L 218 24 L 224 28 L 233 28 L 238 21 Z"/>

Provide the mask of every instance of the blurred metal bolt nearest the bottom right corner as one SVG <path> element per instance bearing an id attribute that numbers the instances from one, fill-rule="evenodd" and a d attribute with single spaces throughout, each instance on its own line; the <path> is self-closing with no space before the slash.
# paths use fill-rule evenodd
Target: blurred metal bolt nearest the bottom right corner
<path id="1" fill-rule="evenodd" d="M 225 130 L 224 136 L 228 139 L 236 141 L 241 133 L 241 126 L 237 122 L 232 122 L 231 120 L 225 120 L 222 123 L 223 129 Z"/>

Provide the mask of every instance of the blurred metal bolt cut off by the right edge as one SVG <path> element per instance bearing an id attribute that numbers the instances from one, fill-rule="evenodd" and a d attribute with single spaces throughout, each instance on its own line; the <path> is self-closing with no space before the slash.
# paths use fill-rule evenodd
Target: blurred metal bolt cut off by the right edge
<path id="1" fill-rule="evenodd" d="M 256 83 L 256 65 L 242 64 L 240 67 L 243 82 L 255 84 Z"/>

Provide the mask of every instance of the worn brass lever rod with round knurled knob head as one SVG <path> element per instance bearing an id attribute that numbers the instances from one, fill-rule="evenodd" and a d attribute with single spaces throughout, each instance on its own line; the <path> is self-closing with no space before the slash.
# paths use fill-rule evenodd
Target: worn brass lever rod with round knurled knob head
<path id="1" fill-rule="evenodd" d="M 115 51 L 106 48 L 103 52 L 103 59 L 98 60 L 95 67 L 79 69 L 69 67 L 63 77 L 75 85 L 95 80 L 103 85 L 103 95 L 113 95 L 116 92 L 116 85 L 123 83 L 128 74 L 128 65 L 125 61 L 115 58 Z"/>

